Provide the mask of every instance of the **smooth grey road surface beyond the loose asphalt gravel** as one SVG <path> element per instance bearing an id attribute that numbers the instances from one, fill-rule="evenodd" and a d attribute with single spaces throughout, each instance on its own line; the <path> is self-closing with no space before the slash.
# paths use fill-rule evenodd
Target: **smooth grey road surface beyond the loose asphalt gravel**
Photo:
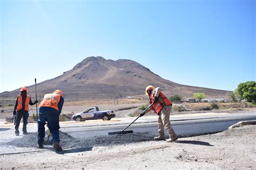
<path id="1" fill-rule="evenodd" d="M 256 115 L 250 115 L 246 118 L 207 118 L 196 120 L 171 121 L 171 125 L 176 134 L 181 137 L 192 137 L 195 135 L 216 133 L 227 130 L 227 128 L 239 121 L 256 120 Z M 93 127 L 68 127 L 61 128 L 62 132 L 70 134 L 74 138 L 90 139 L 96 136 L 108 135 L 108 132 L 122 131 L 129 124 L 93 126 Z M 133 133 L 146 133 L 152 136 L 157 135 L 157 122 L 153 123 L 134 123 L 126 131 L 132 130 Z M 165 131 L 166 134 L 166 131 Z"/>

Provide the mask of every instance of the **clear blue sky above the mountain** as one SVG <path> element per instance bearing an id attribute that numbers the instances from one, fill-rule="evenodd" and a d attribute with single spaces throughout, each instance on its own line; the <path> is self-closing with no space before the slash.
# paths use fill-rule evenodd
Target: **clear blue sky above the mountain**
<path id="1" fill-rule="evenodd" d="M 0 92 L 57 77 L 89 56 L 131 59 L 213 89 L 256 79 L 254 0 L 0 4 Z"/>

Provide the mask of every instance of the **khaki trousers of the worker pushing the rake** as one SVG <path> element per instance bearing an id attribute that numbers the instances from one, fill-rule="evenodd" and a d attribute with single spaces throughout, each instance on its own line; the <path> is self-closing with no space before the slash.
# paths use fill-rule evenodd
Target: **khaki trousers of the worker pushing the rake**
<path id="1" fill-rule="evenodd" d="M 158 134 L 160 137 L 164 138 L 164 127 L 165 127 L 170 138 L 171 139 L 176 138 L 176 134 L 173 131 L 170 123 L 171 110 L 172 110 L 172 105 L 169 105 L 169 106 L 164 106 L 161 112 L 159 112 L 157 122 L 158 122 Z"/>

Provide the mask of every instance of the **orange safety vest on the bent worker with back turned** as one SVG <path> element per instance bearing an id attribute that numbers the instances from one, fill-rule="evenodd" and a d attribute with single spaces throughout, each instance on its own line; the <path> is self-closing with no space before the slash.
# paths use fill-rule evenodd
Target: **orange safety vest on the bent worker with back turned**
<path id="1" fill-rule="evenodd" d="M 52 107 L 58 111 L 60 97 L 61 96 L 59 94 L 45 94 L 44 99 L 41 101 L 39 107 Z"/>

